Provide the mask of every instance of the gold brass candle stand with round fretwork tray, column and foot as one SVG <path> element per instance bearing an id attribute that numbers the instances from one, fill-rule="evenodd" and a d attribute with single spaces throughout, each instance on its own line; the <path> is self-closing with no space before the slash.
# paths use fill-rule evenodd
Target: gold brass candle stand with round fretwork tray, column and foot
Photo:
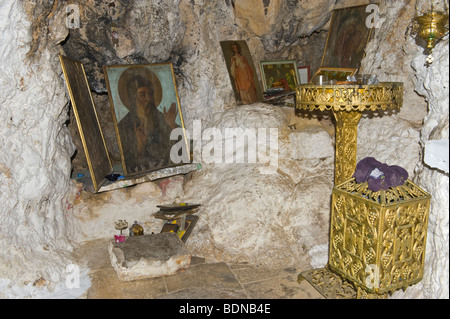
<path id="1" fill-rule="evenodd" d="M 313 85 L 303 84 L 296 90 L 296 113 L 331 111 L 336 120 L 334 183 L 348 180 L 356 168 L 358 123 L 364 111 L 399 110 L 403 104 L 403 83 L 383 82 L 378 85 Z M 304 272 L 299 280 L 308 280 L 326 298 L 384 298 L 351 286 L 327 266 Z"/>

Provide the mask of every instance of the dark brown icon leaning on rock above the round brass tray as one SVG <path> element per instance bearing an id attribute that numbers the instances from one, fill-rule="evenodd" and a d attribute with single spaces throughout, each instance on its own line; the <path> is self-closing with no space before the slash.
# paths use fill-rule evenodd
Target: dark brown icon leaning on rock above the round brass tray
<path id="1" fill-rule="evenodd" d="M 373 27 L 366 25 L 367 5 L 335 9 L 331 15 L 322 67 L 359 68 Z"/>

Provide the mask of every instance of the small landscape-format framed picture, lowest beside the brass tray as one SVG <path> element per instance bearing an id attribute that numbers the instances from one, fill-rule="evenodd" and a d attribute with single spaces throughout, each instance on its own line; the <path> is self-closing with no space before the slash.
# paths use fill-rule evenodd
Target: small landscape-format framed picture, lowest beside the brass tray
<path id="1" fill-rule="evenodd" d="M 297 61 L 260 61 L 259 67 L 265 92 L 279 90 L 281 93 L 296 90 L 296 86 L 299 84 Z"/>

